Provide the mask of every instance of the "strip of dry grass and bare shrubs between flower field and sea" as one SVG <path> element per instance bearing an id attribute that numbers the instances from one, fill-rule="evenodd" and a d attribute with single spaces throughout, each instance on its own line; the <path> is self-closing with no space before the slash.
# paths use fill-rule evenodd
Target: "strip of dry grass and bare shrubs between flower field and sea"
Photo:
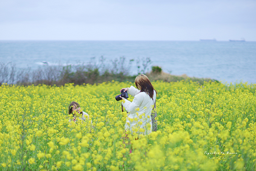
<path id="1" fill-rule="evenodd" d="M 105 61 L 102 57 L 100 63 L 95 61 L 95 58 L 92 58 L 88 64 L 79 64 L 79 65 L 69 65 L 69 66 L 40 66 L 36 70 L 31 70 L 30 68 L 18 69 L 13 63 L 3 63 L 0 62 L 0 85 L 2 83 L 8 84 L 18 84 L 18 85 L 65 85 L 67 83 L 74 83 L 75 85 L 81 84 L 98 84 L 107 81 L 131 81 L 134 82 L 134 79 L 137 75 L 130 75 L 130 68 L 132 62 L 125 60 L 124 57 L 115 59 L 112 61 Z M 140 61 L 137 61 L 138 74 L 144 73 L 151 64 L 151 60 L 146 58 Z M 157 67 L 157 66 L 155 66 Z M 154 69 L 154 67 L 152 67 Z M 159 70 L 154 70 L 146 73 L 149 80 L 157 81 L 162 80 L 164 82 L 177 82 L 181 80 L 192 80 L 198 84 L 204 84 L 204 81 L 217 81 L 210 78 L 195 78 L 188 77 L 186 74 L 183 75 L 171 75 L 166 72 Z"/>

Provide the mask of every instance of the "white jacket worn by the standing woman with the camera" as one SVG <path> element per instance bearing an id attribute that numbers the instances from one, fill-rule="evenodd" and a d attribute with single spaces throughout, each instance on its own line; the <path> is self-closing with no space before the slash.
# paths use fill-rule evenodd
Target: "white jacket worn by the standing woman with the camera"
<path id="1" fill-rule="evenodd" d="M 125 102 L 122 102 L 122 105 L 129 112 L 126 118 L 125 130 L 144 135 L 151 133 L 151 111 L 156 100 L 156 92 L 154 91 L 153 100 L 147 93 L 140 92 L 133 86 L 128 88 L 127 92 L 129 95 L 134 96 L 134 100 L 131 102 L 125 99 Z"/>

